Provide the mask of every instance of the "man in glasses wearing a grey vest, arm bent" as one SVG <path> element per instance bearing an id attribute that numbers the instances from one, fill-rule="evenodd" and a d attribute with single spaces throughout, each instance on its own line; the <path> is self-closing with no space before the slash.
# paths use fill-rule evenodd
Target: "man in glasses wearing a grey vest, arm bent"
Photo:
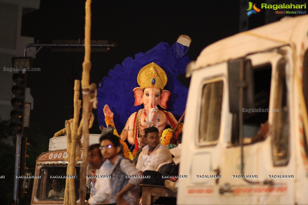
<path id="1" fill-rule="evenodd" d="M 111 199 L 109 203 L 139 204 L 138 186 L 142 178 L 128 178 L 129 175 L 141 176 L 130 160 L 120 155 L 120 140 L 114 134 L 106 134 L 100 139 L 101 153 L 106 161 L 104 166 L 111 167 Z"/>

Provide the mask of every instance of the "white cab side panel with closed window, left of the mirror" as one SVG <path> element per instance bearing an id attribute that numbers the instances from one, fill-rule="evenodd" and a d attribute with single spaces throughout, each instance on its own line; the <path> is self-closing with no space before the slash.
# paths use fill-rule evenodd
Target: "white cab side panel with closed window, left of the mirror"
<path id="1" fill-rule="evenodd" d="M 194 71 L 185 114 L 183 151 L 177 203 L 214 204 L 221 180 L 223 138 L 230 136 L 226 124 L 227 63 Z M 229 116 L 230 118 L 230 116 Z M 183 166 L 182 166 L 183 165 Z"/>

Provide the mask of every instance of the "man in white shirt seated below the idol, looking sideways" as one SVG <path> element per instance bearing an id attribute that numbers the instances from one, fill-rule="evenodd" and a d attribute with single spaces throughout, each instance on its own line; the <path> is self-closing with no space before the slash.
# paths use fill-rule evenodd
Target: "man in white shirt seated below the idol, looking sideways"
<path id="1" fill-rule="evenodd" d="M 145 128 L 145 142 L 148 143 L 139 155 L 136 168 L 141 171 L 156 171 L 158 165 L 172 162 L 168 148 L 160 143 L 159 131 L 156 127 Z"/>

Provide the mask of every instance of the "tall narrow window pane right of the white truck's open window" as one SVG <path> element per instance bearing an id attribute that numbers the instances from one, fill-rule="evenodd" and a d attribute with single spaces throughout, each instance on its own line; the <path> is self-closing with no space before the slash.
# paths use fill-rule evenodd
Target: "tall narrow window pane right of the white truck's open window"
<path id="1" fill-rule="evenodd" d="M 274 166 L 284 166 L 289 161 L 289 106 L 287 101 L 287 86 L 285 60 L 278 62 L 276 70 L 277 85 L 274 97 L 275 109 L 272 124 L 272 155 Z"/>

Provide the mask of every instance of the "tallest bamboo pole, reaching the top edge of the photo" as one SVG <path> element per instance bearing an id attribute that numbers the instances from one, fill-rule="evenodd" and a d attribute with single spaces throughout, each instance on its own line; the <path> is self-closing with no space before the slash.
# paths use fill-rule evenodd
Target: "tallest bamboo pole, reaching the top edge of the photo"
<path id="1" fill-rule="evenodd" d="M 84 205 L 86 199 L 86 185 L 87 185 L 87 156 L 89 147 L 89 103 L 90 103 L 90 70 L 91 70 L 91 0 L 85 3 L 85 36 L 84 36 L 84 61 L 82 64 L 83 72 L 81 79 L 82 99 L 83 99 L 83 159 L 80 168 L 80 204 Z"/>

